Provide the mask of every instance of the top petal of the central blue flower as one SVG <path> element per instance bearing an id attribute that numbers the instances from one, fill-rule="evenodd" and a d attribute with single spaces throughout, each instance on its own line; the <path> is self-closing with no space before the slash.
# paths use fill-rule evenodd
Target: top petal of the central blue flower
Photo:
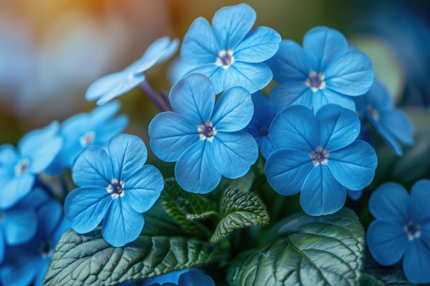
<path id="1" fill-rule="evenodd" d="M 209 121 L 212 116 L 214 86 L 205 75 L 194 73 L 174 84 L 169 99 L 179 115 L 198 126 Z"/>

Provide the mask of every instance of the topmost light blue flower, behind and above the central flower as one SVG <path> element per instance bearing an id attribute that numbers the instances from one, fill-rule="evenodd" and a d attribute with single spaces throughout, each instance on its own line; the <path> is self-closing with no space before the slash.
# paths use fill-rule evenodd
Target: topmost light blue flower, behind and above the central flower
<path id="1" fill-rule="evenodd" d="M 272 72 L 264 64 L 279 48 L 281 37 L 269 27 L 251 30 L 256 12 L 247 4 L 221 8 L 212 19 L 196 19 L 181 47 L 181 58 L 213 82 L 215 93 L 242 86 L 254 93 L 267 86 Z M 188 74 L 190 74 L 188 73 Z"/>

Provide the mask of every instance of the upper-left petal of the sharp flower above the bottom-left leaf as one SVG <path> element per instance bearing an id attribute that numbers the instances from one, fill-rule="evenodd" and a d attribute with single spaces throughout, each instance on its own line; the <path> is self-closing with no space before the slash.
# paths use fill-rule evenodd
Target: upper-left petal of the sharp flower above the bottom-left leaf
<path id="1" fill-rule="evenodd" d="M 76 158 L 71 169 L 71 177 L 78 187 L 106 188 L 113 177 L 111 159 L 99 146 L 88 146 Z"/>

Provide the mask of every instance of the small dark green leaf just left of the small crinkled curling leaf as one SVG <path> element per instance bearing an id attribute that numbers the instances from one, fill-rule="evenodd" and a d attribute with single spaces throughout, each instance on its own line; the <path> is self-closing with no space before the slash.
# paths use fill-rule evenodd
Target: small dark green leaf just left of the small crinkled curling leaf
<path id="1" fill-rule="evenodd" d="M 160 202 L 179 225 L 188 233 L 200 239 L 207 239 L 212 232 L 201 220 L 216 215 L 212 204 L 196 193 L 184 191 L 174 179 L 167 179 Z"/>

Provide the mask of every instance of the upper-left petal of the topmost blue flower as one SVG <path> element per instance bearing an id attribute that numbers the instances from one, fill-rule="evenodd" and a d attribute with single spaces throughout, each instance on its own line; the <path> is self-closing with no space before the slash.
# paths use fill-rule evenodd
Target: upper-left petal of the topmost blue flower
<path id="1" fill-rule="evenodd" d="M 215 64 L 220 50 L 210 23 L 199 17 L 183 38 L 181 59 L 188 64 Z"/>

